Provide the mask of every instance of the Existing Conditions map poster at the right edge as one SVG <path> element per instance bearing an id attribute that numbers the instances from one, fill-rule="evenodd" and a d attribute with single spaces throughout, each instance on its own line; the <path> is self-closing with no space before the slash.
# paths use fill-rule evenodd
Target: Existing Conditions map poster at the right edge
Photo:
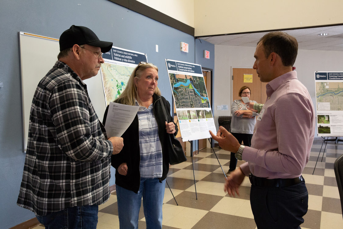
<path id="1" fill-rule="evenodd" d="M 315 72 L 317 133 L 343 137 L 343 72 Z"/>

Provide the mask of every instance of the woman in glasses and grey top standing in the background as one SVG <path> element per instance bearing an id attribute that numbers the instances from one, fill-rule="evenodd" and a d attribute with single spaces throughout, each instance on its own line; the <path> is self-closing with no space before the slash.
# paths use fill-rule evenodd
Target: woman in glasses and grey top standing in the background
<path id="1" fill-rule="evenodd" d="M 250 94 L 250 88 L 247 86 L 243 86 L 239 89 L 240 97 L 248 97 L 249 99 Z M 251 102 L 256 103 L 256 101 Z M 245 146 L 250 146 L 253 129 L 256 123 L 255 116 L 258 115 L 258 113 L 248 110 L 247 107 L 249 106 L 245 104 L 242 99 L 234 100 L 232 102 L 230 133 L 239 141 L 240 144 L 243 141 Z M 237 159 L 235 157 L 235 153 L 236 152 L 231 152 L 230 154 L 229 171 L 226 173 L 226 175 L 229 175 L 230 172 L 236 169 Z"/>

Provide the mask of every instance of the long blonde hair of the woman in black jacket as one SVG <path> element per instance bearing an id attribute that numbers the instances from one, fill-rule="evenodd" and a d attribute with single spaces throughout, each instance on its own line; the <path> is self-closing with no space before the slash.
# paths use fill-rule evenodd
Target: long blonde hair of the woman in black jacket
<path id="1" fill-rule="evenodd" d="M 127 83 L 125 90 L 119 95 L 119 97 L 115 100 L 115 102 L 120 101 L 120 103 L 122 104 L 134 106 L 135 99 L 136 99 L 139 105 L 142 104 L 141 100 L 138 97 L 137 87 L 134 84 L 134 79 L 137 78 L 139 80 L 142 74 L 144 73 L 145 69 L 147 68 L 154 68 L 158 72 L 158 68 L 155 65 L 151 63 L 145 63 L 145 64 L 144 63 L 145 62 L 140 62 L 137 65 L 137 67 L 135 67 L 135 69 L 131 73 L 131 76 L 129 78 L 129 81 Z M 158 89 L 157 86 L 155 88 L 154 93 L 157 95 L 161 95 L 161 91 Z"/>

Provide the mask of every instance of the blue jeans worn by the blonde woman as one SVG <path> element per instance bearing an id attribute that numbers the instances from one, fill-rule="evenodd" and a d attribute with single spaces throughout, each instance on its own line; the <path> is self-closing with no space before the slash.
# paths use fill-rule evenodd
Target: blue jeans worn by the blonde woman
<path id="1" fill-rule="evenodd" d="M 162 205 L 166 180 L 159 178 L 141 178 L 138 193 L 116 185 L 119 227 L 137 229 L 138 215 L 143 196 L 143 208 L 146 229 L 162 228 Z"/>

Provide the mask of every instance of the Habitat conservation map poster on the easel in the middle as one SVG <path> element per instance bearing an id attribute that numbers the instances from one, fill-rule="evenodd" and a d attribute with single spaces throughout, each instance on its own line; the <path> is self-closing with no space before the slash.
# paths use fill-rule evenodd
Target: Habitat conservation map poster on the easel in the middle
<path id="1" fill-rule="evenodd" d="M 182 141 L 217 133 L 201 65 L 166 59 Z"/>

